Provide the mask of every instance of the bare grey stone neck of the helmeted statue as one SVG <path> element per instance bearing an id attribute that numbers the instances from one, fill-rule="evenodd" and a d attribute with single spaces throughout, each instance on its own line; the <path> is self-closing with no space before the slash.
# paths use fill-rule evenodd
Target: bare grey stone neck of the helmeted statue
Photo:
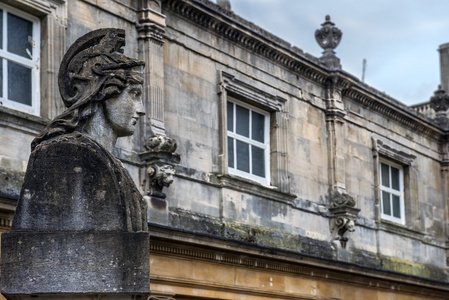
<path id="1" fill-rule="evenodd" d="M 83 132 L 112 153 L 112 149 L 117 142 L 117 134 L 107 122 L 102 105 L 97 108 L 94 116 L 84 125 Z"/>

